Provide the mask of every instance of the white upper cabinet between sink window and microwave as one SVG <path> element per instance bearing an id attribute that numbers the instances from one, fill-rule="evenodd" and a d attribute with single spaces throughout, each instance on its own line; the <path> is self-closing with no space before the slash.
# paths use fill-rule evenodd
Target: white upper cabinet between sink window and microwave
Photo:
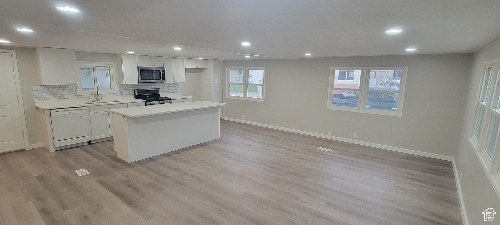
<path id="1" fill-rule="evenodd" d="M 118 83 L 139 83 L 137 78 L 137 55 L 118 54 Z"/>

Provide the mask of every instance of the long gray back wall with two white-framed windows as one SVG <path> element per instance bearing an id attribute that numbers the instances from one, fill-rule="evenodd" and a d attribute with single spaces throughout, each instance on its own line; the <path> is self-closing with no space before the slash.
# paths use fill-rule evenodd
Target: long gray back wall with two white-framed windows
<path id="1" fill-rule="evenodd" d="M 225 117 L 452 156 L 458 147 L 470 53 L 224 60 L 265 67 L 265 102 L 225 98 Z M 326 109 L 329 69 L 408 66 L 402 116 Z M 224 71 L 226 73 L 227 71 Z M 224 76 L 224 79 L 226 77 Z M 324 146 L 323 146 L 324 147 Z"/>

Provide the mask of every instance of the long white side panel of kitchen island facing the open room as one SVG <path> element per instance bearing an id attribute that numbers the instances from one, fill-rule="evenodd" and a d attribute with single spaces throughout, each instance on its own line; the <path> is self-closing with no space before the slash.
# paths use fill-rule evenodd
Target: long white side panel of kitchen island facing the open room
<path id="1" fill-rule="evenodd" d="M 129 162 L 217 139 L 219 123 L 218 106 L 127 117 Z"/>

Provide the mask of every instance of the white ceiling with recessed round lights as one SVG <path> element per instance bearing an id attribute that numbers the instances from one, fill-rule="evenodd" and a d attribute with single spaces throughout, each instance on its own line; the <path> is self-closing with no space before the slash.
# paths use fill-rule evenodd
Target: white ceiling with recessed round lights
<path id="1" fill-rule="evenodd" d="M 471 52 L 500 34 L 498 12 L 499 0 L 2 0 L 0 39 L 217 59 Z"/>

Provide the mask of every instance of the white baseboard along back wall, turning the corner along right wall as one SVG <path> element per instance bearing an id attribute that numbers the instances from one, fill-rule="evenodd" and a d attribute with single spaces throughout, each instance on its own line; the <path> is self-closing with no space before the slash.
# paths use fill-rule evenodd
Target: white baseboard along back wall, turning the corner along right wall
<path id="1" fill-rule="evenodd" d="M 235 122 L 242 122 L 242 123 L 247 123 L 247 124 L 252 124 L 252 125 L 257 125 L 257 126 L 263 126 L 263 127 L 273 128 L 273 129 L 279 129 L 279 130 L 284 130 L 284 131 L 289 131 L 289 132 L 294 132 L 294 133 L 301 133 L 301 134 L 310 135 L 310 136 L 323 137 L 323 138 L 332 139 L 332 140 L 339 140 L 339 141 L 348 142 L 348 143 L 355 143 L 355 144 L 360 144 L 360 145 L 364 145 L 364 146 L 378 147 L 378 148 L 391 150 L 391 151 L 399 151 L 399 152 L 404 152 L 404 153 L 409 153 L 409 154 L 415 154 L 415 155 L 420 155 L 420 156 L 426 156 L 426 157 L 438 158 L 438 159 L 451 161 L 451 164 L 453 166 L 453 173 L 455 174 L 456 191 L 458 192 L 458 203 L 460 205 L 460 211 L 462 214 L 463 225 L 468 225 L 467 215 L 465 214 L 465 207 L 463 205 L 462 190 L 460 188 L 460 183 L 458 181 L 459 180 L 458 179 L 458 171 L 456 170 L 455 160 L 451 156 L 434 154 L 434 153 L 423 152 L 423 151 L 416 151 L 416 150 L 400 148 L 400 147 L 393 147 L 393 146 L 377 144 L 377 143 L 370 143 L 370 142 L 366 142 L 366 141 L 353 140 L 353 139 L 337 137 L 337 136 L 330 136 L 330 135 L 313 133 L 313 132 L 308 132 L 308 131 L 303 131 L 303 130 L 298 130 L 298 129 L 290 129 L 290 128 L 281 127 L 281 126 L 274 126 L 274 125 L 246 121 L 246 120 L 235 119 L 235 118 L 229 118 L 229 117 L 222 117 L 222 119 L 235 121 Z"/>

